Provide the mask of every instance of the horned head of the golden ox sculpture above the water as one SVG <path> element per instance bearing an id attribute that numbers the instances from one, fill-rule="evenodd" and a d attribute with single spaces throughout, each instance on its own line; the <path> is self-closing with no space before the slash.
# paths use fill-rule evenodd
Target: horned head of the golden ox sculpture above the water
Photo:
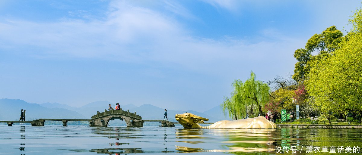
<path id="1" fill-rule="evenodd" d="M 175 118 L 184 128 L 199 128 L 197 123 L 209 120 L 192 113 L 176 114 Z"/>

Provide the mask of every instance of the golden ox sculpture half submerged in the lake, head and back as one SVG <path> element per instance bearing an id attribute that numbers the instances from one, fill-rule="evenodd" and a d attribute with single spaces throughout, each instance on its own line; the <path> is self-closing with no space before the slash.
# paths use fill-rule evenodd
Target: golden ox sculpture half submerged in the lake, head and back
<path id="1" fill-rule="evenodd" d="M 225 129 L 276 129 L 277 125 L 265 119 L 262 116 L 241 119 L 234 121 L 218 121 L 209 126 L 200 126 L 198 123 L 203 123 L 209 119 L 196 116 L 192 113 L 176 114 L 176 121 L 180 122 L 184 128 L 225 128 Z"/>

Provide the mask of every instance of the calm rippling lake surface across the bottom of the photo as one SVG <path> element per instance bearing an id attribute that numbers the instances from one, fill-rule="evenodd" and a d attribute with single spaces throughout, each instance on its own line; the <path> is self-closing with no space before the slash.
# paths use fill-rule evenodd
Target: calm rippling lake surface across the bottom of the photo
<path id="1" fill-rule="evenodd" d="M 275 146 L 362 147 L 361 129 L 183 129 L 0 125 L 0 154 L 275 154 Z M 362 152 L 362 150 L 361 150 Z"/>

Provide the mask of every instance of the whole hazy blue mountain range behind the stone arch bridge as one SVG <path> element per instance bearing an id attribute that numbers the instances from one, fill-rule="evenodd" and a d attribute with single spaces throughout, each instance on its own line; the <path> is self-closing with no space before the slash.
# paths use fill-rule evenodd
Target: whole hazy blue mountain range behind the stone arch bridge
<path id="1" fill-rule="evenodd" d="M 115 107 L 115 103 L 110 103 L 108 101 L 97 101 L 97 102 L 88 103 L 82 107 L 72 107 L 67 104 L 60 104 L 60 103 L 36 104 L 36 103 L 27 103 L 24 100 L 0 99 L 0 109 L 7 109 L 3 110 L 0 113 L 0 120 L 18 119 L 20 117 L 20 109 L 26 109 L 27 120 L 28 118 L 90 119 L 91 116 L 97 114 L 97 111 L 104 112 L 105 109 L 108 109 L 109 104 L 112 104 L 112 107 Z M 139 107 L 135 106 L 134 104 L 126 104 L 126 105 L 121 105 L 121 108 L 124 111 L 127 111 L 127 109 L 129 109 L 131 113 L 137 112 L 137 115 L 142 116 L 142 119 L 144 120 L 164 119 L 165 109 L 153 106 L 151 104 L 143 104 L 142 106 Z M 175 115 L 183 114 L 185 112 L 193 113 L 197 116 L 209 119 L 209 121 L 206 122 L 230 120 L 228 118 L 228 115 L 226 115 L 226 117 L 224 116 L 222 109 L 220 109 L 219 106 L 211 108 L 210 110 L 207 110 L 205 112 L 198 112 L 193 110 L 181 111 L 181 110 L 168 109 L 167 116 L 169 121 L 176 122 Z"/>

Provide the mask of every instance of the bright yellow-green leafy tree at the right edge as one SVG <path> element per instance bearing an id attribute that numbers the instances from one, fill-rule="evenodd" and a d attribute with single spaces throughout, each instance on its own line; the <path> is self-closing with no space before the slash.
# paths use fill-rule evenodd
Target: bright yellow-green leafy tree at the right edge
<path id="1" fill-rule="evenodd" d="M 314 106 L 327 116 L 330 114 L 357 113 L 362 111 L 362 25 L 361 10 L 357 10 L 353 35 L 342 40 L 340 47 L 331 55 L 310 62 L 306 89 L 314 98 Z"/>

